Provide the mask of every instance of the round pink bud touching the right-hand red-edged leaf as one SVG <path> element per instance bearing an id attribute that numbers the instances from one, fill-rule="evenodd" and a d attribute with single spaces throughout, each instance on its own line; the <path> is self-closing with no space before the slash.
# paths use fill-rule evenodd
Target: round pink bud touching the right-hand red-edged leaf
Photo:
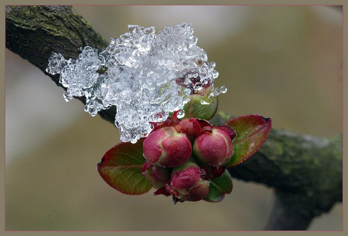
<path id="1" fill-rule="evenodd" d="M 233 155 L 232 140 L 221 129 L 213 128 L 202 133 L 193 144 L 193 154 L 204 163 L 213 166 L 224 165 Z"/>

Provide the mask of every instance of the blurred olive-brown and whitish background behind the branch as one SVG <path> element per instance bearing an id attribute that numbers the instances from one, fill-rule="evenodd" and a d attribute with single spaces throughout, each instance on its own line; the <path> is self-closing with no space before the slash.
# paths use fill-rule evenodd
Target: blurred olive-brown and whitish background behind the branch
<path id="1" fill-rule="evenodd" d="M 342 9 L 332 6 L 75 6 L 105 39 L 128 24 L 190 22 L 226 85 L 219 109 L 273 118 L 275 129 L 342 133 Z M 85 45 L 82 45 L 85 46 Z M 96 163 L 120 142 L 116 127 L 65 102 L 63 88 L 6 50 L 6 230 L 262 230 L 266 186 L 233 179 L 220 203 L 124 195 Z M 309 230 L 342 230 L 342 204 Z"/>

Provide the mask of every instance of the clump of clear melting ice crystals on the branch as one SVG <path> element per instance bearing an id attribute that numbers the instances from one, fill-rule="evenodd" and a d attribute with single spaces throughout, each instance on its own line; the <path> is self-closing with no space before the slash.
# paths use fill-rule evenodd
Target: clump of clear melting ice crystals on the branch
<path id="1" fill-rule="evenodd" d="M 99 54 L 88 46 L 76 60 L 52 53 L 46 72 L 60 74 L 66 101 L 86 96 L 85 110 L 92 116 L 115 105 L 121 140 L 135 143 L 151 132 L 149 122 L 166 120 L 182 110 L 190 93 L 213 86 L 218 72 L 196 45 L 189 23 L 166 26 L 158 34 L 154 27 L 128 29 Z M 221 92 L 226 88 L 212 89 L 210 97 Z"/>

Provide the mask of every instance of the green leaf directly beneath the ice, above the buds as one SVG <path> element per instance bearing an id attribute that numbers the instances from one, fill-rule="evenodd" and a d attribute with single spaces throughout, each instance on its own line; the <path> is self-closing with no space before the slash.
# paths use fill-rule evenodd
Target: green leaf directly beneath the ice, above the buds
<path id="1" fill-rule="evenodd" d="M 210 120 L 215 115 L 218 107 L 217 96 L 209 98 L 210 88 L 204 88 L 201 93 L 203 94 L 194 93 L 190 95 L 189 102 L 183 107 L 185 111 L 185 119 L 198 118 Z"/>

